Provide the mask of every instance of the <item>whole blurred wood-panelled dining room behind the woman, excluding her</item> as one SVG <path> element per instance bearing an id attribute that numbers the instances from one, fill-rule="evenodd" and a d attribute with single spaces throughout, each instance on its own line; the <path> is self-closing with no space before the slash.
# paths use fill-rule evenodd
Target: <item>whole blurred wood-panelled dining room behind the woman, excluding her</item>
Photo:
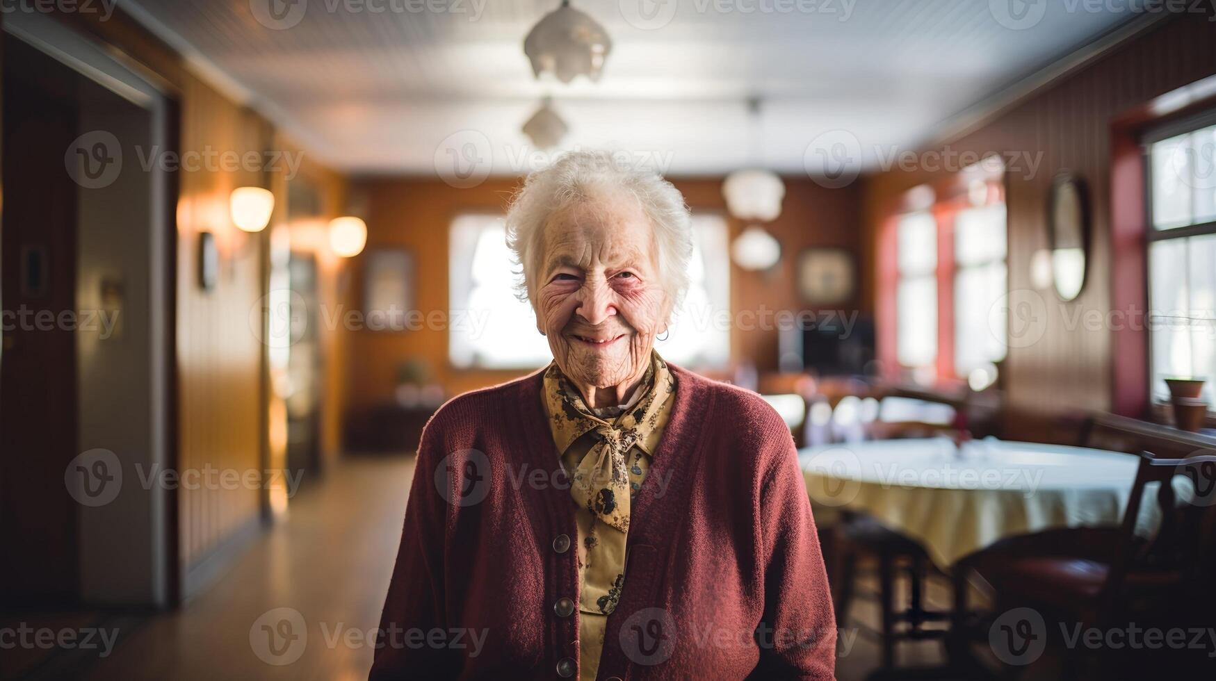
<path id="1" fill-rule="evenodd" d="M 657 349 L 788 423 L 841 680 L 1211 677 L 1212 2 L 0 28 L 0 679 L 365 679 L 423 426 L 551 359 L 503 215 L 580 148 L 691 208 Z"/>

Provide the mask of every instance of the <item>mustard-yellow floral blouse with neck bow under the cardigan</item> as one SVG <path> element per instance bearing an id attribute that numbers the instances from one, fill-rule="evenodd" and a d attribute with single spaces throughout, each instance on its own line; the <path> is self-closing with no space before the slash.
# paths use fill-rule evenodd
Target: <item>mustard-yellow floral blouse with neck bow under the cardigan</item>
<path id="1" fill-rule="evenodd" d="M 545 410 L 553 441 L 570 478 L 579 511 L 578 559 L 580 677 L 599 669 L 604 627 L 625 585 L 625 539 L 634 495 L 651 468 L 651 457 L 675 401 L 675 377 L 652 354 L 651 366 L 629 403 L 589 409 L 557 364 L 545 372 Z"/>

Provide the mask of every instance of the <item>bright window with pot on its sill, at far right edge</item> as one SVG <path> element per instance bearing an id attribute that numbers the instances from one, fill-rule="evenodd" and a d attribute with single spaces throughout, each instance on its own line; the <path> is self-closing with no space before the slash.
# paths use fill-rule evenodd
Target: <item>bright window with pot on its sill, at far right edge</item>
<path id="1" fill-rule="evenodd" d="M 1204 398 L 1211 403 L 1216 395 L 1216 125 L 1183 134 L 1172 130 L 1148 142 L 1150 390 L 1165 400 L 1165 378 L 1207 378 Z"/>

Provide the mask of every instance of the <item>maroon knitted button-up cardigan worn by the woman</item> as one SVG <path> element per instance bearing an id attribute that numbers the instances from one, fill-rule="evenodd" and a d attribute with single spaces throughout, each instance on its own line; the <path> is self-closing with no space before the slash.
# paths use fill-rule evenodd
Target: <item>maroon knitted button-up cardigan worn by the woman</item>
<path id="1" fill-rule="evenodd" d="M 671 365 L 599 679 L 834 679 L 835 620 L 789 429 Z M 460 395 L 422 434 L 371 679 L 579 677 L 574 505 L 541 372 Z M 451 502 L 449 502 L 451 500 Z"/>

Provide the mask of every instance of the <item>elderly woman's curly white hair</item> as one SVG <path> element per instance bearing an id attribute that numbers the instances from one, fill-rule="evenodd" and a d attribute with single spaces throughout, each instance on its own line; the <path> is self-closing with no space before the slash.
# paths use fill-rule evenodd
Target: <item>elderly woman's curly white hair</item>
<path id="1" fill-rule="evenodd" d="M 692 260 L 692 219 L 683 196 L 658 173 L 627 167 L 608 151 L 573 151 L 528 175 L 507 209 L 507 246 L 520 268 L 519 297 L 536 309 L 536 277 L 544 258 L 545 224 L 550 215 L 589 199 L 626 196 L 649 218 L 655 261 L 671 309 L 688 291 Z"/>

